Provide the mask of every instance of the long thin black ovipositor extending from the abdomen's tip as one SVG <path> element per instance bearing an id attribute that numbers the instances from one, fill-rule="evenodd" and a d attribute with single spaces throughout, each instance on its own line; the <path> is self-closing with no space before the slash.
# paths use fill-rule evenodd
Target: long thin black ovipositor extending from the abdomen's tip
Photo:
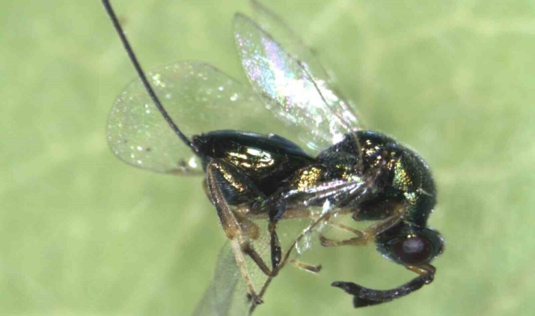
<path id="1" fill-rule="evenodd" d="M 176 124 L 174 124 L 173 119 L 169 116 L 169 113 L 164 109 L 162 103 L 158 99 L 158 96 L 156 96 L 156 93 L 154 92 L 154 89 L 152 89 L 152 86 L 150 85 L 149 81 L 147 80 L 147 76 L 145 76 L 145 73 L 143 72 L 143 69 L 141 68 L 141 65 L 139 64 L 139 61 L 137 61 L 137 58 L 135 57 L 134 51 L 132 50 L 132 47 L 130 46 L 130 43 L 128 43 L 128 40 L 126 39 L 125 32 L 123 31 L 123 28 L 119 24 L 119 20 L 117 19 L 117 16 L 115 15 L 115 12 L 113 12 L 113 9 L 111 7 L 111 4 L 108 0 L 102 0 L 102 3 L 104 4 L 104 7 L 106 8 L 106 11 L 108 12 L 108 15 L 110 16 L 111 21 L 113 22 L 113 26 L 115 27 L 115 30 L 117 31 L 117 34 L 119 34 L 119 37 L 121 38 L 121 42 L 123 43 L 123 46 L 125 47 L 126 53 L 128 54 L 128 57 L 132 61 L 132 64 L 134 65 L 134 68 L 137 72 L 137 75 L 139 75 L 139 78 L 141 79 L 141 82 L 143 82 L 143 86 L 145 86 L 145 89 L 147 90 L 147 93 L 150 95 L 150 98 L 156 104 L 156 107 L 162 113 L 162 116 L 167 121 L 167 124 L 171 126 L 174 133 L 180 137 L 180 139 L 188 145 L 189 148 L 195 150 L 192 141 L 189 140 L 189 138 L 182 133 L 182 131 L 178 128 Z"/>

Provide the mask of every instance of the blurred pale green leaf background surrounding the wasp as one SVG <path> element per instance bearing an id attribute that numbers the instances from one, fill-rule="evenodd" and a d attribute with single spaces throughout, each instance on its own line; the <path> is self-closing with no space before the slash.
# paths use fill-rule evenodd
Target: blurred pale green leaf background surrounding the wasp
<path id="1" fill-rule="evenodd" d="M 114 1 L 146 68 L 199 59 L 243 78 L 240 1 Z M 257 315 L 529 315 L 535 310 L 535 2 L 269 1 L 333 70 L 369 127 L 431 165 L 447 238 L 430 286 L 353 310 L 333 280 L 412 277 L 366 249 L 287 268 Z M 201 181 L 108 149 L 135 74 L 99 1 L 0 4 L 0 314 L 188 315 L 224 243 Z"/>

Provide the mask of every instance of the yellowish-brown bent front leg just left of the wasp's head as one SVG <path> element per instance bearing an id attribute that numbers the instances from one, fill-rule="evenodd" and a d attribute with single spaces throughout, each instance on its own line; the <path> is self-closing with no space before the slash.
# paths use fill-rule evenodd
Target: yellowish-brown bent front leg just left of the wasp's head
<path id="1" fill-rule="evenodd" d="M 371 225 L 370 227 L 362 231 L 347 227 L 345 225 L 331 223 L 330 225 L 344 229 L 347 232 L 354 233 L 355 235 L 357 235 L 357 237 L 349 238 L 346 240 L 332 240 L 322 235 L 319 237 L 319 241 L 322 243 L 322 246 L 325 247 L 335 247 L 343 245 L 365 245 L 371 240 L 373 240 L 373 238 L 375 238 L 375 236 L 377 236 L 378 234 L 383 233 L 388 228 L 391 228 L 392 226 L 396 225 L 396 223 L 398 223 L 401 219 L 402 215 L 403 211 L 402 209 L 400 209 L 400 211 L 395 212 L 393 215 L 383 220 L 380 220 L 379 222 Z"/>

